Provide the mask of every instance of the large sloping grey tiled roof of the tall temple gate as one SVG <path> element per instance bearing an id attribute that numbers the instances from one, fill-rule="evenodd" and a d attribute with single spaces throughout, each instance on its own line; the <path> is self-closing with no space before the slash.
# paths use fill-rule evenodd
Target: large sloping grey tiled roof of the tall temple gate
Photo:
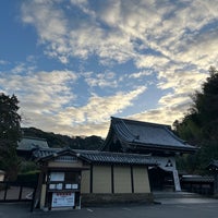
<path id="1" fill-rule="evenodd" d="M 174 135 L 169 125 L 111 118 L 109 132 L 108 137 L 113 132 L 121 142 L 131 146 L 195 150 L 194 146 Z M 108 142 L 106 138 L 106 144 Z"/>

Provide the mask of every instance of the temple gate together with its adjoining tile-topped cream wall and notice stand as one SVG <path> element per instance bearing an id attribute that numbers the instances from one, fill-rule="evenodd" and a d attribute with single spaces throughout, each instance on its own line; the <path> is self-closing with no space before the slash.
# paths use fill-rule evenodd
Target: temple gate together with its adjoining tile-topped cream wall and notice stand
<path id="1" fill-rule="evenodd" d="M 29 152 L 25 142 L 20 152 Z M 181 191 L 175 156 L 196 150 L 168 125 L 120 118 L 111 118 L 99 150 L 49 148 L 41 141 L 29 142 L 32 158 L 40 169 L 34 205 L 45 210 L 153 202 L 153 191 L 169 183 Z"/>

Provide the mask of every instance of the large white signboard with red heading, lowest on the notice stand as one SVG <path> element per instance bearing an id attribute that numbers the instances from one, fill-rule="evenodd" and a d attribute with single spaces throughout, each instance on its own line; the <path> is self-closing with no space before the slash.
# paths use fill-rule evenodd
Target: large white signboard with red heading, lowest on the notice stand
<path id="1" fill-rule="evenodd" d="M 73 207 L 75 205 L 75 193 L 52 193 L 51 207 Z"/>

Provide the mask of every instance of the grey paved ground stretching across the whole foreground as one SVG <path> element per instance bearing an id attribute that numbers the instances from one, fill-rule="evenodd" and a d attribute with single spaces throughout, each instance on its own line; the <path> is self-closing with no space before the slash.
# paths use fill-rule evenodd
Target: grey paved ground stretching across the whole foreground
<path id="1" fill-rule="evenodd" d="M 173 194 L 172 194 L 173 195 Z M 81 210 L 31 213 L 29 203 L 0 204 L 0 218 L 217 218 L 218 199 L 185 193 L 156 195 L 159 204 L 126 204 L 102 207 L 84 207 Z M 169 195 L 168 195 L 169 196 Z M 177 196 L 177 197 L 175 197 Z M 183 196 L 183 197 L 179 197 Z M 194 197 L 195 196 L 195 197 Z"/>

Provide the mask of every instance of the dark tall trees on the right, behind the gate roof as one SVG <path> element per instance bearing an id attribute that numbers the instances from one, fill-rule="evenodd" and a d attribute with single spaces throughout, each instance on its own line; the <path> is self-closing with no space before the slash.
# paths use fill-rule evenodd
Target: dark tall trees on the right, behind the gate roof
<path id="1" fill-rule="evenodd" d="M 193 156 L 178 159 L 181 169 L 204 173 L 211 159 L 218 159 L 218 71 L 210 66 L 202 92 L 192 96 L 193 105 L 181 122 L 173 126 L 177 134 L 199 149 Z"/>

